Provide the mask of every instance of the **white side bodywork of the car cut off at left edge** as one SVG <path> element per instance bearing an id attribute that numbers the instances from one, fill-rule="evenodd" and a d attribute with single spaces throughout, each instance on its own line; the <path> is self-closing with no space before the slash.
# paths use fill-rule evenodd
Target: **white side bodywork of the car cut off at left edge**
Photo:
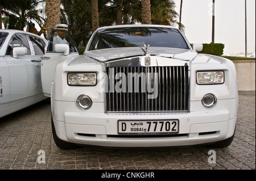
<path id="1" fill-rule="evenodd" d="M 18 30 L 1 30 L 9 33 L 0 49 L 0 117 L 9 115 L 22 108 L 38 103 L 43 99 L 40 61 L 42 56 L 36 56 L 32 43 L 28 39 L 36 37 L 46 43 L 46 40 L 32 33 Z M 17 54 L 18 58 L 6 55 L 7 46 L 14 35 L 26 35 L 30 46 L 30 55 Z M 21 50 L 21 49 L 20 49 Z"/>

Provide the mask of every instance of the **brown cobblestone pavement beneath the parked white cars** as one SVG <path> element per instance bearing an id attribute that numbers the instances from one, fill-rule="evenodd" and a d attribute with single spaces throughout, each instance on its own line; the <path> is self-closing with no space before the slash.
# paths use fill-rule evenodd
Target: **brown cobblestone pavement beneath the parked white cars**
<path id="1" fill-rule="evenodd" d="M 216 163 L 209 163 L 207 146 L 61 150 L 52 138 L 50 104 L 43 101 L 0 119 L 0 169 L 255 170 L 255 94 L 240 93 L 239 103 L 234 141 L 214 149 Z"/>

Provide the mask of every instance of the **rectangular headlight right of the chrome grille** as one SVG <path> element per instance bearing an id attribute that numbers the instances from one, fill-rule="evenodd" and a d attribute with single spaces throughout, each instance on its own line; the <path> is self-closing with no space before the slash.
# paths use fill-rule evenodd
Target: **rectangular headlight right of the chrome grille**
<path id="1" fill-rule="evenodd" d="M 224 71 L 199 71 L 196 73 L 196 83 L 199 85 L 224 83 Z"/>

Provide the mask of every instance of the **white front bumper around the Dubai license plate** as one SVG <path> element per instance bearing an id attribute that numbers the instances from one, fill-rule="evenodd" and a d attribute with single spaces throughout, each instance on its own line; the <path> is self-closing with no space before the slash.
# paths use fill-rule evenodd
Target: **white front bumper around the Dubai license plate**
<path id="1" fill-rule="evenodd" d="M 237 102 L 236 99 L 232 101 Z M 229 110 L 163 114 L 105 114 L 103 112 L 65 111 L 64 108 L 75 106 L 72 102 L 53 101 L 53 105 L 58 108 L 53 111 L 53 123 L 57 136 L 63 141 L 83 145 L 154 147 L 206 144 L 231 137 L 236 127 L 236 117 L 231 119 Z M 98 106 L 100 105 L 98 103 Z M 94 106 L 97 107 L 97 103 Z M 118 135 L 118 120 L 159 119 L 179 119 L 179 134 L 162 137 Z"/>

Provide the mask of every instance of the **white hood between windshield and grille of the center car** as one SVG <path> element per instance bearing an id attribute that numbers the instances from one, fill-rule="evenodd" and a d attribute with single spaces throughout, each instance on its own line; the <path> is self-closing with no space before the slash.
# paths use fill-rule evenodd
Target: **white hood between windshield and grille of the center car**
<path id="1" fill-rule="evenodd" d="M 144 47 L 130 47 L 130 48 L 112 48 L 90 50 L 84 52 L 86 56 L 89 56 L 98 61 L 106 62 L 110 60 L 118 60 L 121 58 L 144 56 Z M 162 48 L 162 47 L 149 47 L 147 51 L 148 56 L 160 56 L 166 58 L 176 58 L 179 60 L 190 61 L 197 56 L 197 52 L 193 52 L 189 49 L 179 48 Z"/>

